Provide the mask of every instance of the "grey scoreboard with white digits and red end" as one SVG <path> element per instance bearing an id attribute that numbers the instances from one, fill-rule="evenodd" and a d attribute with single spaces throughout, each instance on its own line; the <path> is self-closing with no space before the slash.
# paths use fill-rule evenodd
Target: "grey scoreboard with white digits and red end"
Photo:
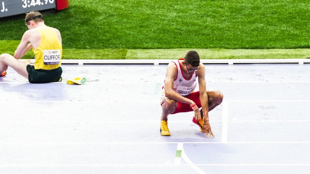
<path id="1" fill-rule="evenodd" d="M 0 0 L 0 18 L 24 15 L 30 11 L 62 10 L 68 0 Z"/>

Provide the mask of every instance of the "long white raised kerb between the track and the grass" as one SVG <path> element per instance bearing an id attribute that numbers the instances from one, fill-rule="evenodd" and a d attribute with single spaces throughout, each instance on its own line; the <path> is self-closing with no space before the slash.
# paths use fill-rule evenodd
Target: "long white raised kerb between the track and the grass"
<path id="1" fill-rule="evenodd" d="M 34 63 L 34 59 L 30 62 Z M 131 59 L 131 60 L 87 60 L 87 59 L 62 59 L 62 64 L 168 64 L 172 59 Z M 310 59 L 200 59 L 201 63 L 204 64 L 229 64 L 234 63 L 310 63 Z"/>

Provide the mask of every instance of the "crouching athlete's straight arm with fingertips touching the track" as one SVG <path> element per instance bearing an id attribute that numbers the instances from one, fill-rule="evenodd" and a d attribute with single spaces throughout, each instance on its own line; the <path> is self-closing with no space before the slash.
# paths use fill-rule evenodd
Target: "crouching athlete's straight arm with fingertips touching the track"
<path id="1" fill-rule="evenodd" d="M 198 83 L 199 83 L 199 99 L 201 103 L 202 112 L 204 115 L 204 124 L 202 126 L 202 132 L 206 131 L 206 135 L 209 138 L 208 133 L 210 134 L 210 137 L 213 138 L 214 135 L 211 131 L 210 123 L 209 123 L 209 101 L 208 101 L 208 94 L 206 92 L 206 71 L 205 66 L 203 63 L 200 63 L 200 70 L 197 71 L 198 76 Z"/>

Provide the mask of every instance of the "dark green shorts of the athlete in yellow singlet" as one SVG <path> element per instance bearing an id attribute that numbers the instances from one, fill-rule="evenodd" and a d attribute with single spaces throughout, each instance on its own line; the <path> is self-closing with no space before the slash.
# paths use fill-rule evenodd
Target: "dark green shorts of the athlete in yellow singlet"
<path id="1" fill-rule="evenodd" d="M 62 69 L 61 67 L 52 70 L 34 69 L 33 65 L 27 65 L 27 72 L 30 83 L 51 83 L 61 80 Z"/>

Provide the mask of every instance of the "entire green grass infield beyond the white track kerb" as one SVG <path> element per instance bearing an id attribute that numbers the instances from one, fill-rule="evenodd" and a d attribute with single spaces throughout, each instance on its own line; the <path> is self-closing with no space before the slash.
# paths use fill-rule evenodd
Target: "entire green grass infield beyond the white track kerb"
<path id="1" fill-rule="evenodd" d="M 278 58 L 277 49 L 297 49 L 288 51 L 291 56 L 283 50 L 288 55 L 284 58 L 310 57 L 310 4 L 305 0 L 71 0 L 69 4 L 68 9 L 45 16 L 46 24 L 62 33 L 64 58 L 81 52 L 89 59 L 125 59 L 134 58 L 130 50 L 135 49 L 141 53 L 141 49 L 182 48 L 240 53 L 245 52 L 240 49 L 258 53 L 275 49 L 263 58 Z M 20 40 L 26 29 L 23 20 L 2 21 L 0 40 Z M 299 49 L 305 49 L 305 55 L 300 56 Z M 214 58 L 222 57 L 234 56 Z"/>

